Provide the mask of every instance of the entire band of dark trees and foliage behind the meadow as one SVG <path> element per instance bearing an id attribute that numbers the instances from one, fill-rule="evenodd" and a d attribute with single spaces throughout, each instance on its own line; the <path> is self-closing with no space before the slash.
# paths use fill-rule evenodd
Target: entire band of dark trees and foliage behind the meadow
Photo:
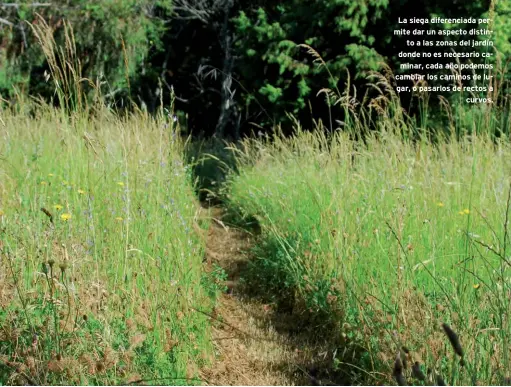
<path id="1" fill-rule="evenodd" d="M 351 94 L 356 90 L 362 97 L 370 92 L 367 75 L 382 62 L 399 72 L 397 53 L 409 48 L 407 38 L 393 33 L 400 27 L 398 17 L 477 18 L 490 8 L 489 0 L 44 3 L 0 4 L 2 98 L 15 90 L 52 98 L 47 64 L 27 24 L 37 23 L 38 13 L 60 42 L 62 19 L 71 22 L 83 76 L 106 82 L 103 95 L 112 106 L 135 102 L 154 112 L 162 101 L 168 106 L 173 94 L 190 131 L 233 138 L 275 124 L 285 128 L 289 114 L 304 126 L 321 119 L 330 127 L 343 112 L 328 106 L 325 94 L 318 96 L 322 88 L 342 91 L 349 80 Z M 494 11 L 496 45 L 505 64 L 511 53 L 511 5 L 499 2 Z M 402 97 L 403 106 L 410 106 L 409 97 Z"/>

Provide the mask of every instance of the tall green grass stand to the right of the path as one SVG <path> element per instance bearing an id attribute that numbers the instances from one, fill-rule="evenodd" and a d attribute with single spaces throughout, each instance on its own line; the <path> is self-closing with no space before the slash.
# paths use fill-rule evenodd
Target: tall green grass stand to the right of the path
<path id="1" fill-rule="evenodd" d="M 253 280 L 297 296 L 297 316 L 333 323 L 333 347 L 356 348 L 333 362 L 353 378 L 389 382 L 405 345 L 448 383 L 503 383 L 511 144 L 484 133 L 405 140 L 407 124 L 388 117 L 366 143 L 297 129 L 236 148 L 228 202 L 263 229 Z M 461 338 L 464 368 L 443 322 Z"/>

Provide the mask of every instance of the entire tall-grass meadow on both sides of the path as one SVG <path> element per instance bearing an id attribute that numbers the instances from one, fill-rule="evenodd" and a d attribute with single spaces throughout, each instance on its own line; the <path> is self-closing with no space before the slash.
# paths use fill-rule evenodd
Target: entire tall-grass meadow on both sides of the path
<path id="1" fill-rule="evenodd" d="M 504 88 L 494 106 L 441 98 L 440 112 L 415 96 L 414 118 L 384 66 L 371 99 L 320 92 L 338 127 L 295 121 L 217 157 L 163 99 L 151 115 L 107 107 L 69 25 L 64 46 L 32 28 L 55 99 L 0 107 L 0 384 L 209 384 L 227 275 L 204 264 L 208 195 L 224 229 L 257 224 L 225 247 L 251 245 L 245 295 L 325 343 L 331 381 L 509 384 Z"/>

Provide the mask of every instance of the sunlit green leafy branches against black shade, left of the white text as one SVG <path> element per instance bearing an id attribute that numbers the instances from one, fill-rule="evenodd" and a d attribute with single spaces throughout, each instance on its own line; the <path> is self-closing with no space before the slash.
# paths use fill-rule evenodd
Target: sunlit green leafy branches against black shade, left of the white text
<path id="1" fill-rule="evenodd" d="M 257 120 L 266 126 L 285 121 L 288 112 L 310 122 L 309 108 L 314 117 L 327 119 L 329 108 L 316 94 L 325 86 L 342 89 L 346 70 L 362 79 L 378 68 L 383 58 L 373 48 L 377 39 L 371 27 L 387 6 L 387 0 L 291 0 L 241 11 L 235 18 L 236 54 L 240 77 L 251 90 L 243 95 L 246 109 L 263 105 L 269 114 Z M 315 63 L 303 43 L 322 56 L 325 66 Z"/>

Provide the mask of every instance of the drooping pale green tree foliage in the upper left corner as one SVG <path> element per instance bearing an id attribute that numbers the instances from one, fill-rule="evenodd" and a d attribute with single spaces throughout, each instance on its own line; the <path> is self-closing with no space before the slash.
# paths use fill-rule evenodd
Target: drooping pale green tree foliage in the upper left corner
<path id="1" fill-rule="evenodd" d="M 105 95 L 128 93 L 129 77 L 158 45 L 161 20 L 154 17 L 156 0 L 53 0 L 45 3 L 0 5 L 0 94 L 9 97 L 14 87 L 50 99 L 53 87 L 46 82 L 48 67 L 28 23 L 39 23 L 37 14 L 53 30 L 57 44 L 64 43 L 63 21 L 74 31 L 83 76 L 100 79 Z M 105 83 L 106 82 L 106 83 Z"/>

